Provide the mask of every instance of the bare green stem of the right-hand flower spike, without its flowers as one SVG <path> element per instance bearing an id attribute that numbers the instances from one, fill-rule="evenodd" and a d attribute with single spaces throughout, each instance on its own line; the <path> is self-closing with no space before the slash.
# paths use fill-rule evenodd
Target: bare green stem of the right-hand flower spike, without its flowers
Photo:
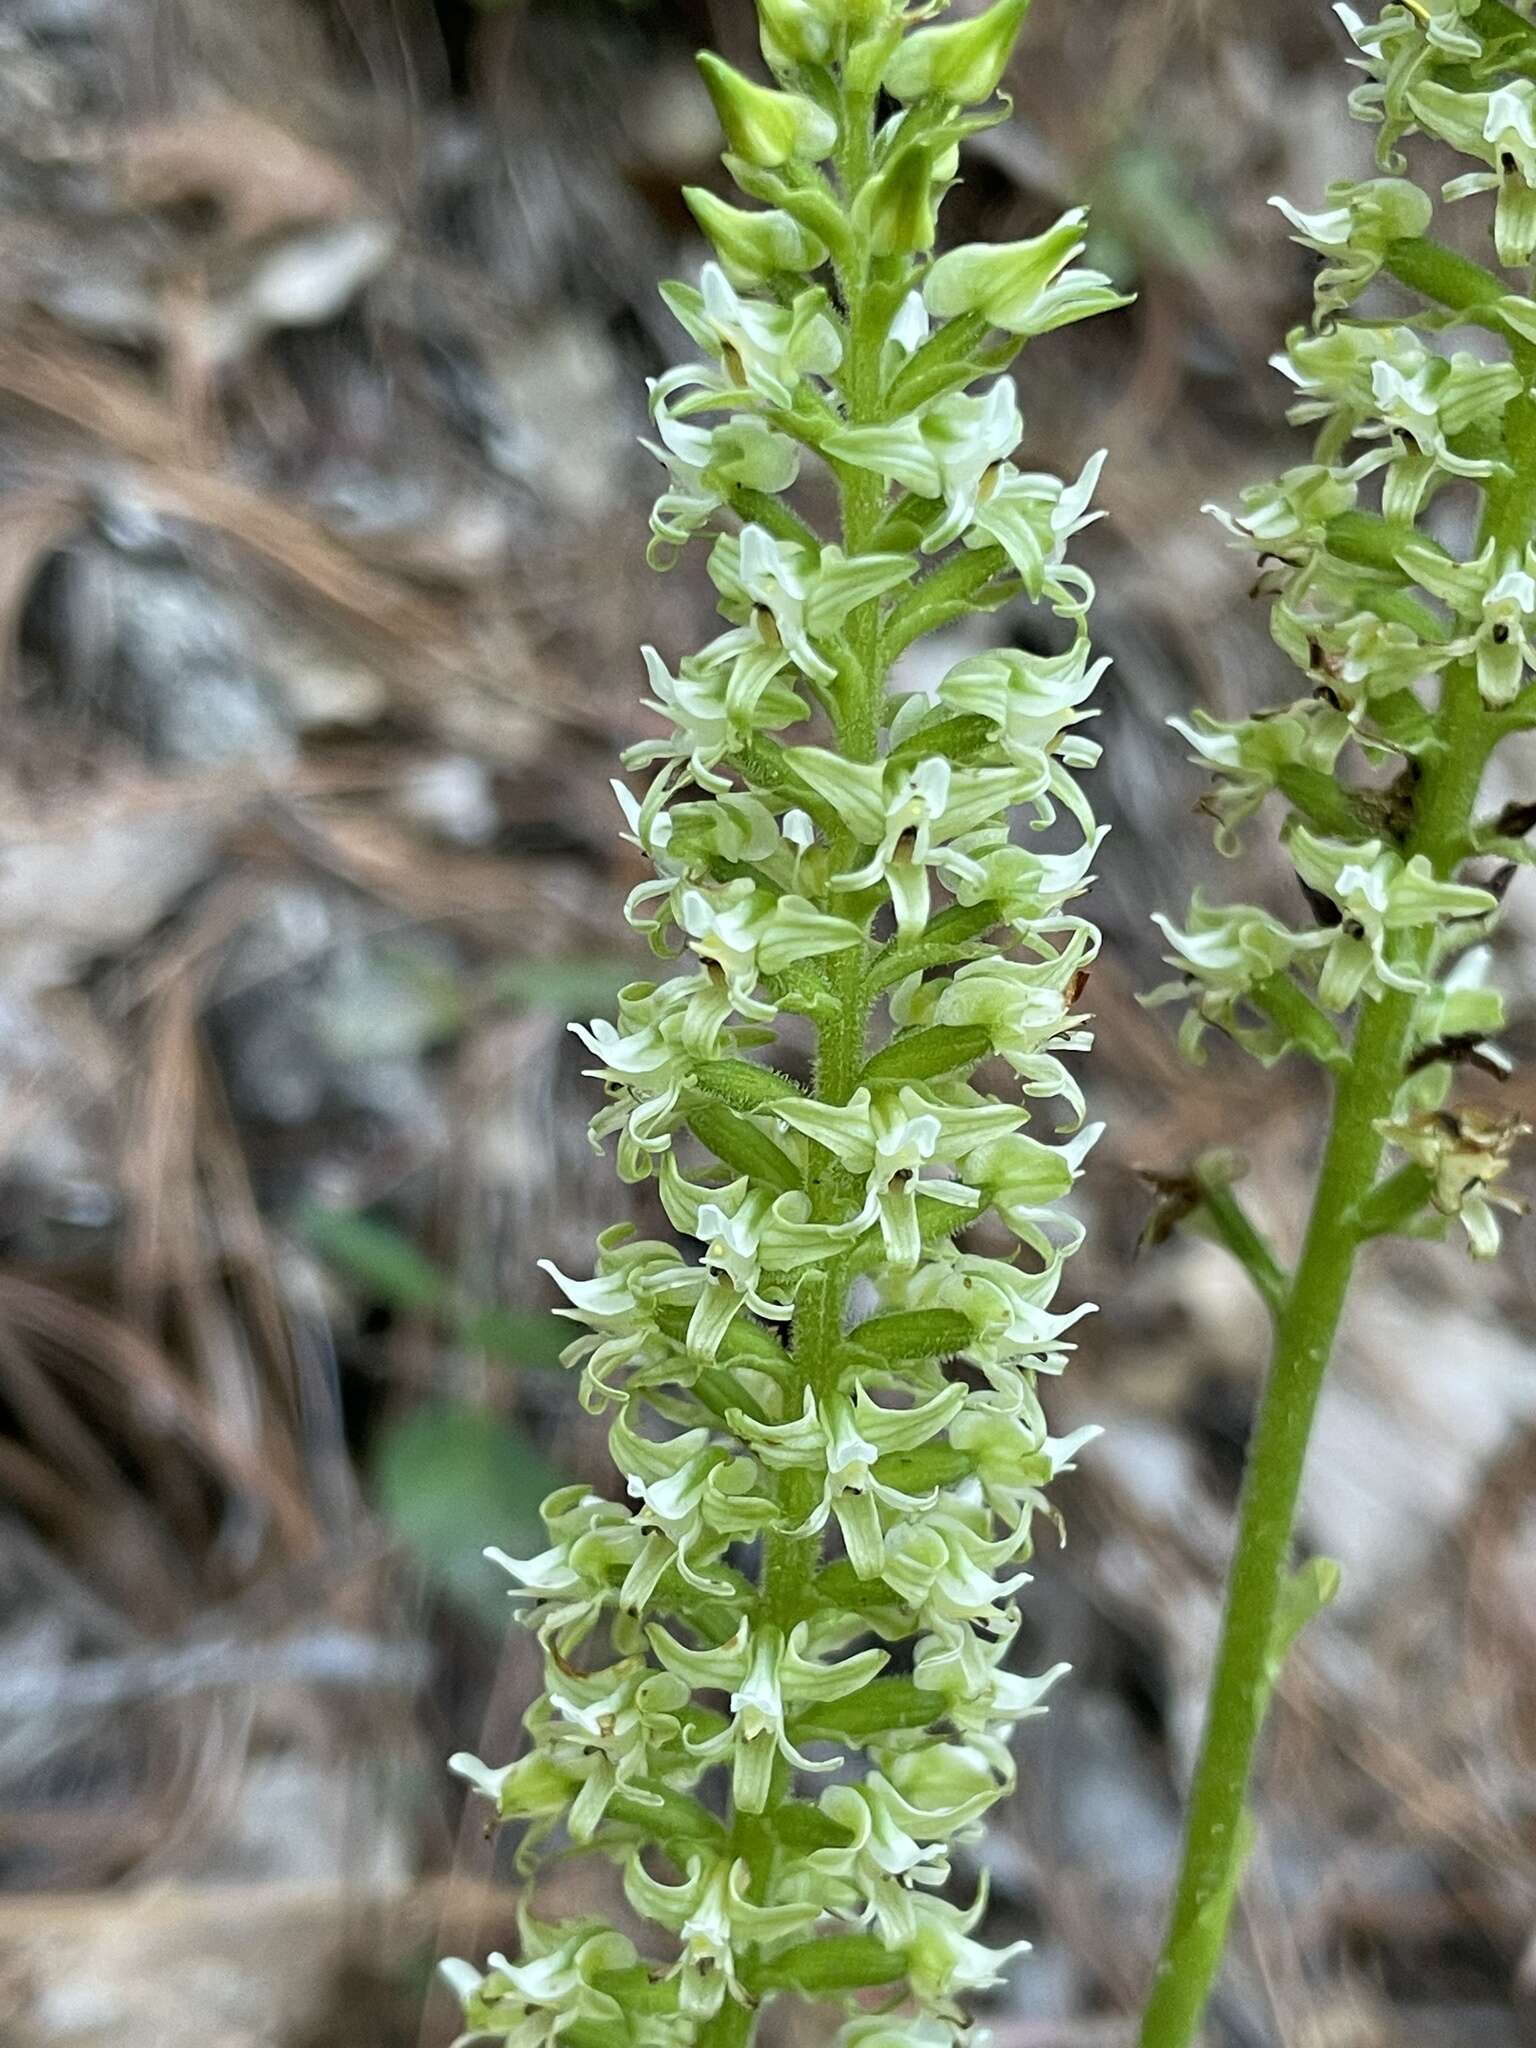
<path id="1" fill-rule="evenodd" d="M 1536 348 L 1518 342 L 1513 356 L 1530 387 Z M 1483 539 L 1524 551 L 1536 530 L 1536 399 L 1528 393 L 1509 403 L 1505 446 L 1509 473 L 1487 485 Z M 1407 854 L 1423 854 L 1440 877 L 1464 856 L 1473 807 L 1497 737 L 1499 721 L 1483 709 L 1475 672 L 1468 666 L 1450 670 L 1436 745 L 1425 754 L 1417 821 L 1405 848 Z M 1425 965 L 1434 936 L 1411 938 L 1409 958 L 1415 965 Z M 1286 1642 L 1282 1599 L 1307 1442 L 1356 1255 L 1372 1235 L 1370 1219 L 1362 1221 L 1362 1204 L 1376 1186 L 1384 1151 L 1376 1122 L 1391 1116 L 1411 1053 L 1411 1030 L 1413 995 L 1386 991 L 1366 1004 L 1348 1065 L 1335 1081 L 1333 1120 L 1300 1262 L 1278 1300 L 1206 1729 L 1190 1788 L 1178 1892 L 1141 2021 L 1141 2048 L 1190 2048 L 1227 1946 L 1249 1837 L 1253 1753 L 1270 1706 L 1276 1657 Z"/>

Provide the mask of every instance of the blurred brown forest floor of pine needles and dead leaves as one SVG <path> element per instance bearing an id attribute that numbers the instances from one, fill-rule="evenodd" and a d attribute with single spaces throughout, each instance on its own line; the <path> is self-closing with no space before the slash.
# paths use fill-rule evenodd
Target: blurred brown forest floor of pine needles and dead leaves
<path id="1" fill-rule="evenodd" d="M 481 1544 L 614 1483 L 535 1257 L 657 1223 L 565 1024 L 647 973 L 608 776 L 637 643 L 707 618 L 698 561 L 643 567 L 635 444 L 655 281 L 700 260 L 678 186 L 719 174 L 702 41 L 750 61 L 745 0 L 0 6 L 8 2048 L 442 2042 L 428 1958 L 508 1935 L 442 1757 L 510 1755 L 537 1690 Z M 1112 1135 L 1053 1389 L 1108 1438 L 1022 1642 L 1077 1669 L 983 1851 L 1036 1944 L 997 2048 L 1124 2038 L 1264 1356 L 1212 1247 L 1137 1257 L 1137 1169 L 1239 1143 L 1288 1239 L 1317 1128 L 1305 1077 L 1194 1075 L 1133 995 L 1192 879 L 1292 887 L 1257 842 L 1219 872 L 1163 719 L 1288 686 L 1200 506 L 1298 459 L 1266 356 L 1309 258 L 1266 199 L 1362 168 L 1346 86 L 1323 0 L 1036 0 L 952 203 L 1008 238 L 1085 197 L 1139 291 L 1020 373 L 1032 461 L 1114 451 Z M 1305 1511 L 1346 1585 L 1286 1677 L 1225 2048 L 1532 2038 L 1534 1327 L 1520 1249 L 1362 1290 Z M 614 1911 L 582 1882 L 545 1905 Z"/>

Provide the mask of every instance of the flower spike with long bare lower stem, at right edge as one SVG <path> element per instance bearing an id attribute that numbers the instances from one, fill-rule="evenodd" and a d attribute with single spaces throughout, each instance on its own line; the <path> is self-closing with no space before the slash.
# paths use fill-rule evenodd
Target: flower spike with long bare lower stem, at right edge
<path id="1" fill-rule="evenodd" d="M 1180 924 L 1159 918 L 1178 979 L 1149 997 L 1188 1006 L 1196 1057 L 1217 1030 L 1266 1063 L 1317 1061 L 1333 1114 L 1292 1270 L 1231 1174 L 1196 1161 L 1159 1176 L 1178 1212 L 1247 1268 L 1274 1356 L 1141 2048 L 1198 2036 L 1251 1839 L 1268 1698 L 1294 1616 L 1319 1604 L 1290 1571 L 1290 1524 L 1356 1255 L 1386 1233 L 1456 1225 L 1491 1257 L 1499 1210 L 1524 1210 L 1501 1182 L 1526 1126 L 1468 1100 L 1468 1075 L 1503 1065 L 1483 942 L 1536 823 L 1522 799 L 1477 817 L 1495 748 L 1536 727 L 1536 27 L 1530 0 L 1335 12 L 1384 176 L 1331 184 L 1317 211 L 1276 201 L 1323 256 L 1315 319 L 1276 356 L 1313 457 L 1221 514 L 1262 563 L 1300 682 L 1251 717 L 1174 721 L 1214 778 L 1204 807 L 1221 850 L 1274 799 L 1294 885 L 1270 907 L 1196 895 Z M 1444 145 L 1477 168 L 1440 184 Z M 1491 268 L 1432 238 L 1436 201 L 1468 199 Z M 1389 317 L 1405 289 L 1411 309 Z M 1460 537 L 1454 551 L 1446 537 Z"/>

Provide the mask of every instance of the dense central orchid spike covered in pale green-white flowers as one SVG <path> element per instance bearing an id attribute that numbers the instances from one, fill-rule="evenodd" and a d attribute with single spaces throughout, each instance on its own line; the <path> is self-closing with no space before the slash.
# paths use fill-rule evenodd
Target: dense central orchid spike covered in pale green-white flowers
<path id="1" fill-rule="evenodd" d="M 1083 1313 L 1053 1298 L 1098 1135 L 1065 1061 L 1106 664 L 1067 561 L 1100 457 L 1024 467 L 1006 373 L 1122 301 L 1069 268 L 1079 209 L 928 260 L 1024 0 L 915 27 L 940 10 L 760 0 L 776 86 L 702 59 L 756 205 L 686 195 L 717 260 L 664 293 L 692 360 L 651 385 L 651 528 L 657 565 L 709 537 L 725 629 L 645 649 L 662 729 L 616 784 L 653 870 L 627 915 L 678 965 L 578 1026 L 594 1143 L 678 1241 L 616 1227 L 594 1274 L 549 1268 L 623 1501 L 567 1487 L 539 1556 L 492 1552 L 545 1694 L 518 1761 L 455 1757 L 524 1866 L 549 1837 L 608 1858 L 653 1937 L 528 1909 L 516 1960 L 451 1966 L 465 2040 L 739 2048 L 801 1993 L 846 2009 L 844 2048 L 946 2048 L 1012 1956 L 942 1886 L 1059 1677 L 1006 1663 L 1032 1520 L 1096 1434 L 1055 1440 L 1036 1376 Z M 907 102 L 885 121 L 881 88 Z M 1061 651 L 897 670 L 1010 598 Z M 1038 1098 L 1055 1137 L 1026 1128 Z"/>

